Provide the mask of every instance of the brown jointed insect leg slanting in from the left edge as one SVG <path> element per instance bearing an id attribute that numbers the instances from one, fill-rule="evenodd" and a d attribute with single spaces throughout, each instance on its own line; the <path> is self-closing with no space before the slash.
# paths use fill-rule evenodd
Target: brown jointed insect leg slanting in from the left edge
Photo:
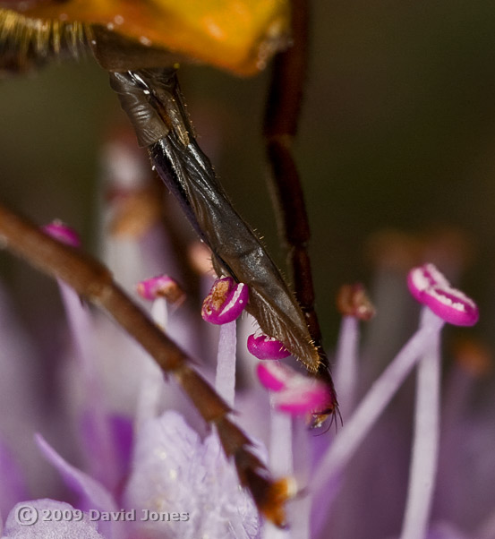
<path id="1" fill-rule="evenodd" d="M 103 264 L 60 244 L 2 204 L 0 246 L 47 275 L 62 279 L 84 299 L 107 312 L 153 357 L 166 375 L 174 375 L 203 419 L 217 426 L 226 457 L 235 461 L 239 479 L 252 492 L 260 511 L 278 526 L 285 525 L 285 482 L 273 482 L 266 467 L 250 450 L 252 442 L 228 419 L 230 407 L 192 369 L 192 360 L 183 350 L 115 284 Z"/>

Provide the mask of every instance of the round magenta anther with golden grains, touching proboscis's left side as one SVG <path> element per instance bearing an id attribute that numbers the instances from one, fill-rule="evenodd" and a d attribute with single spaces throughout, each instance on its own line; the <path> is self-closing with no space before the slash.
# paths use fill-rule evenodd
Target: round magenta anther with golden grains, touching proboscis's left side
<path id="1" fill-rule="evenodd" d="M 212 324 L 235 321 L 245 309 L 249 290 L 243 283 L 235 283 L 231 277 L 219 278 L 205 297 L 201 308 L 203 320 Z"/>

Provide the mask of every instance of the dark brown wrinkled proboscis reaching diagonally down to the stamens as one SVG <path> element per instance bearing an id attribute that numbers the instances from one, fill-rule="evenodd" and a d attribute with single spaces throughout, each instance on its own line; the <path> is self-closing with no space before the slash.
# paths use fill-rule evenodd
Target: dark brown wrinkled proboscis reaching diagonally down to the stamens
<path id="1" fill-rule="evenodd" d="M 209 159 L 194 140 L 173 70 L 111 73 L 111 84 L 130 116 L 158 175 L 213 252 L 219 274 L 250 289 L 247 310 L 269 336 L 282 341 L 312 372 L 320 356 L 303 312 L 252 229 L 234 210 Z"/>

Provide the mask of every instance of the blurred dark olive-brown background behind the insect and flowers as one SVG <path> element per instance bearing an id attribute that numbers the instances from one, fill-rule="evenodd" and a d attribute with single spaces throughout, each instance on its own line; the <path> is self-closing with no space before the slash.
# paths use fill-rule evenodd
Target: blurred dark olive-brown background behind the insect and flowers
<path id="1" fill-rule="evenodd" d="M 423 233 L 448 226 L 469 235 L 476 256 L 463 287 L 491 313 L 494 29 L 489 0 L 313 3 L 296 153 L 327 340 L 337 327 L 337 287 L 370 282 L 364 247 L 384 227 Z M 181 75 L 201 145 L 236 208 L 283 264 L 260 136 L 267 74 L 241 80 L 184 65 Z M 39 223 L 64 219 L 94 246 L 98 149 L 121 114 L 107 74 L 90 58 L 2 81 L 2 199 Z M 0 266 L 20 285 L 21 304 L 45 297 L 31 270 L 5 254 Z M 26 284 L 26 276 L 35 280 Z M 484 317 L 482 331 L 491 330 L 490 320 Z"/>

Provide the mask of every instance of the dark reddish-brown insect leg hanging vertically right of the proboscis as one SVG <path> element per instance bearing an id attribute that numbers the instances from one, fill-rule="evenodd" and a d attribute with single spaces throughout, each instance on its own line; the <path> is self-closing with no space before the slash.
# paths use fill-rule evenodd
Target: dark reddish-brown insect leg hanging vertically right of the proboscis
<path id="1" fill-rule="evenodd" d="M 321 346 L 320 323 L 314 309 L 315 295 L 308 252 L 310 225 L 292 148 L 306 81 L 308 12 L 308 0 L 293 0 L 292 47 L 274 59 L 263 134 L 271 168 L 269 185 L 274 195 L 279 234 L 288 248 L 295 296 L 303 310 L 312 340 L 320 352 L 320 377 L 329 382 L 333 390 L 329 360 Z"/>

